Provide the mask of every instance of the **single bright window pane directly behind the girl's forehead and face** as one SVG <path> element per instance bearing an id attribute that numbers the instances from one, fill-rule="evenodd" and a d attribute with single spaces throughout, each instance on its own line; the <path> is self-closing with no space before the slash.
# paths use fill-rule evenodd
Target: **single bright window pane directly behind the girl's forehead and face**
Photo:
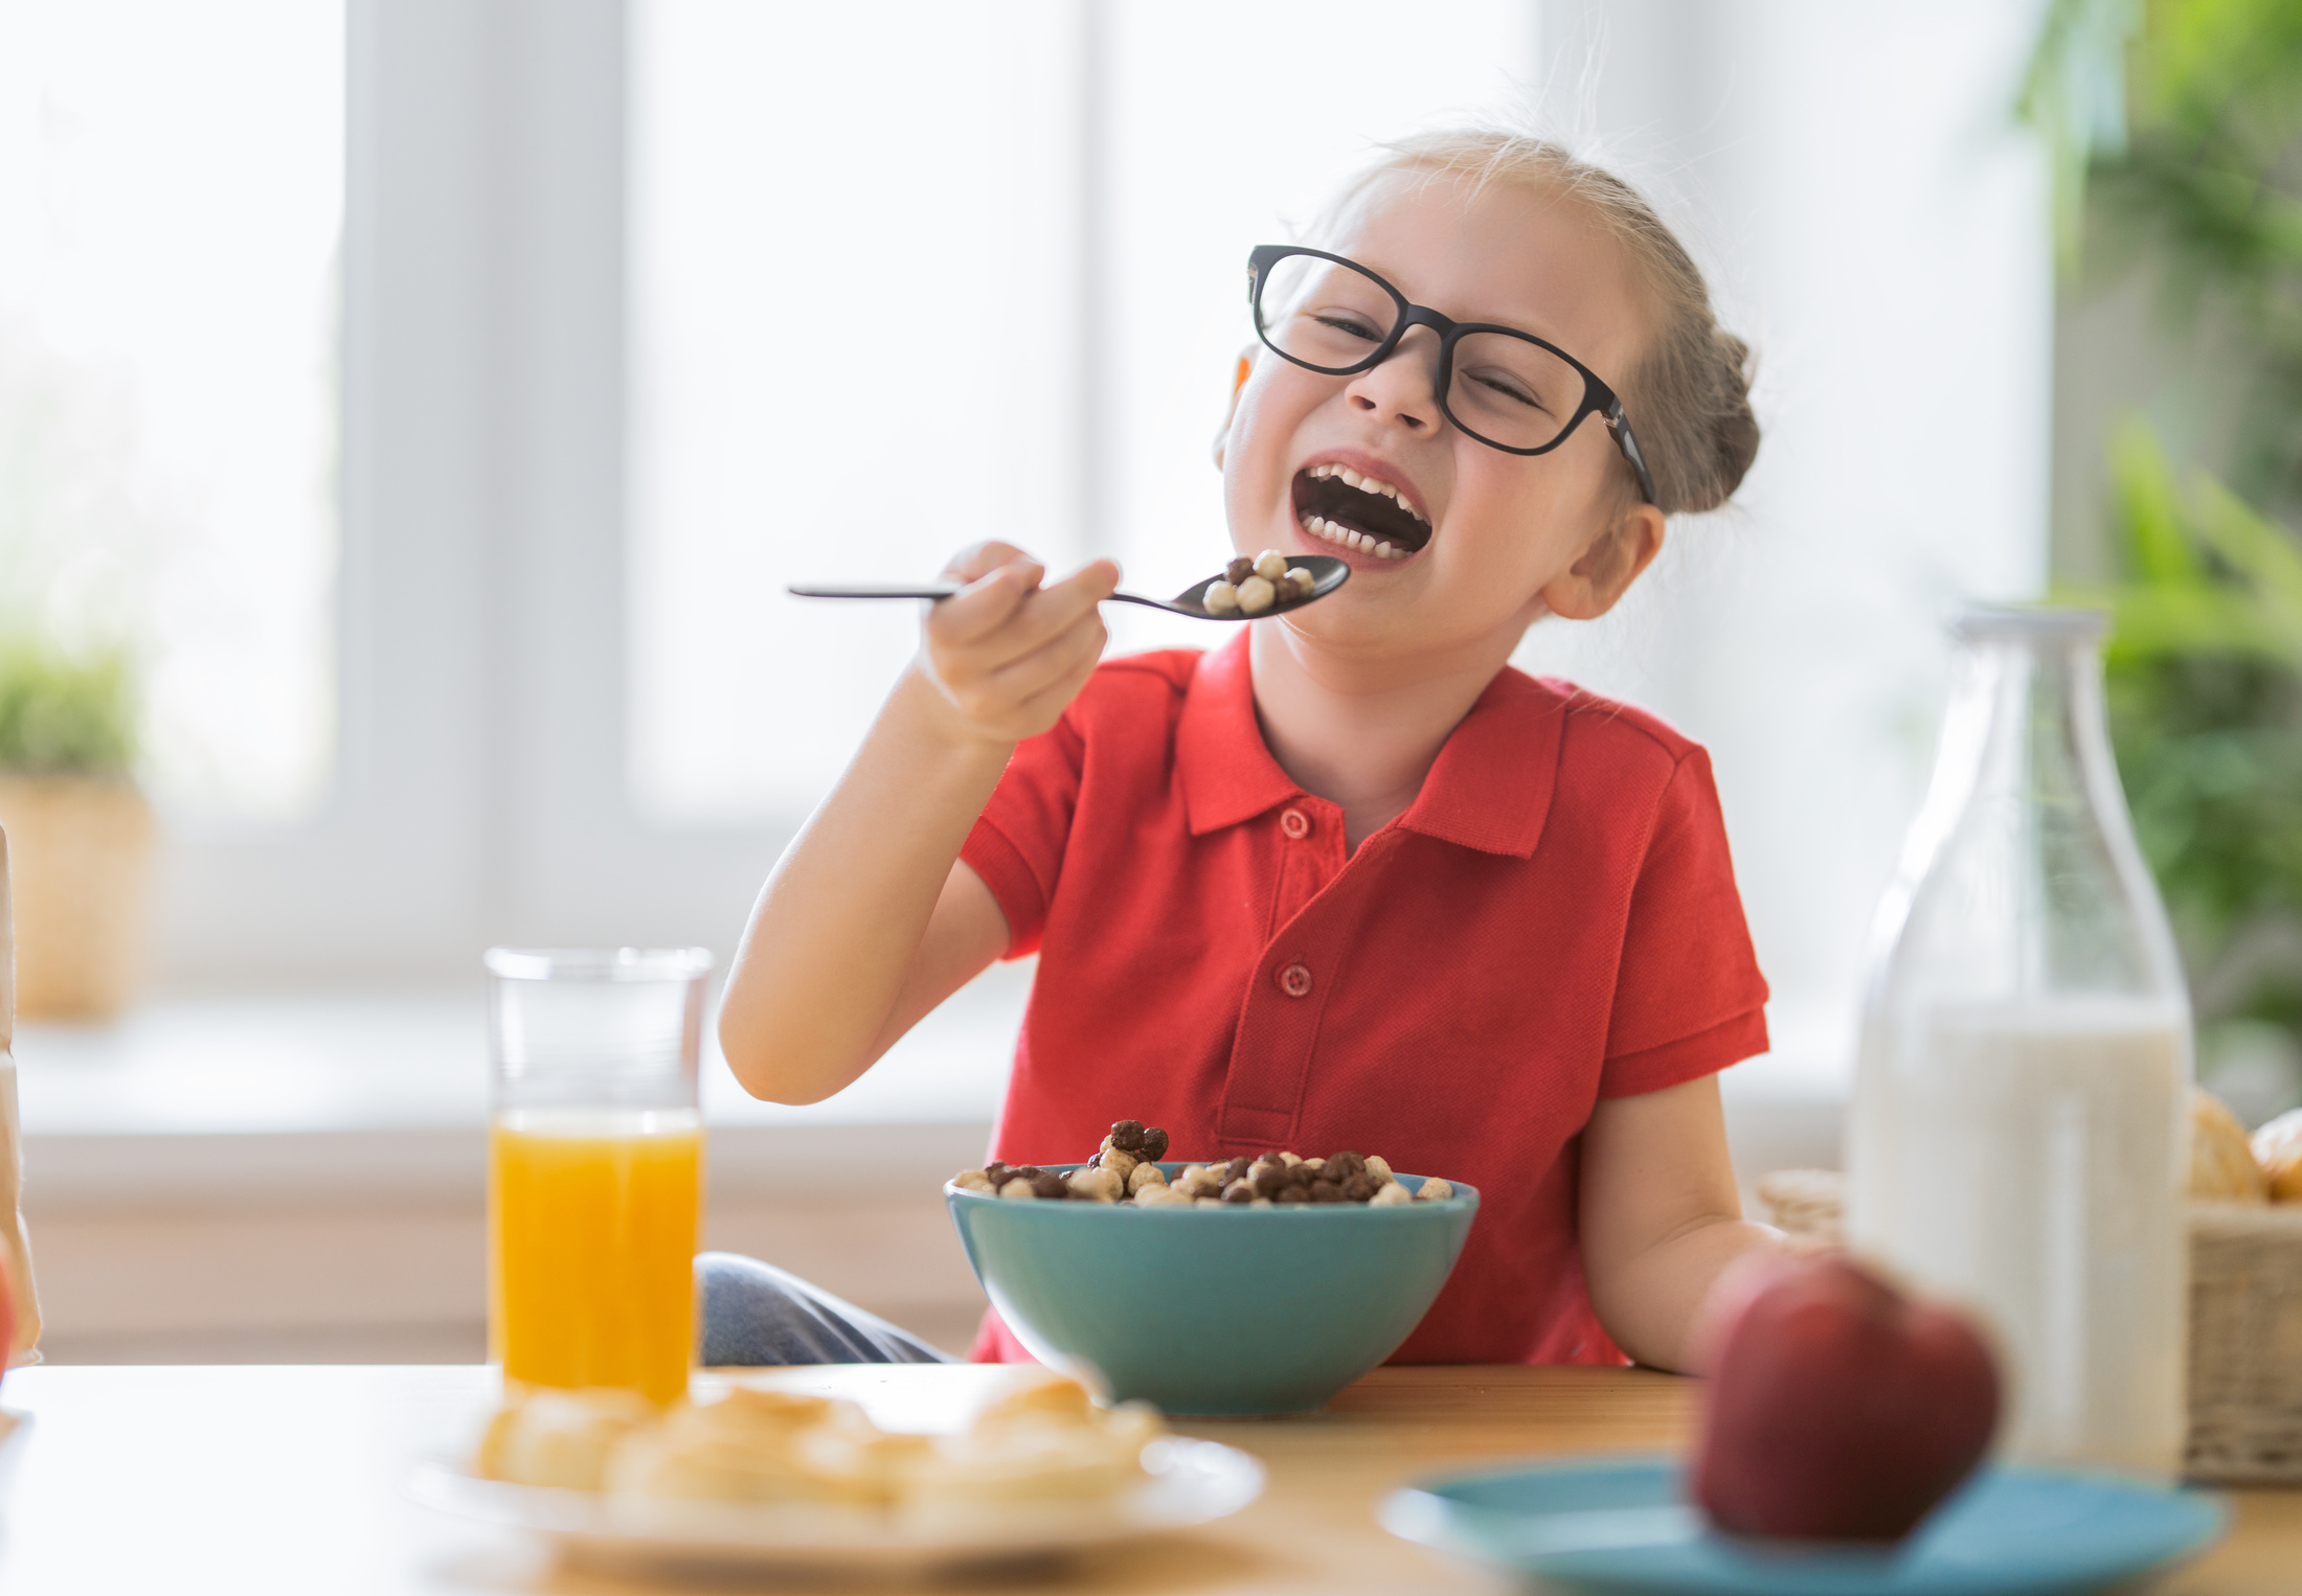
<path id="1" fill-rule="evenodd" d="M 1114 322 L 1103 396 L 1105 527 L 1133 584 L 1174 593 L 1229 554 L 1211 460 L 1248 324 L 1248 251 L 1298 237 L 1374 145 L 1524 106 L 1529 0 L 1112 7 L 1110 297 L 1172 297 L 1160 322 Z M 1220 44 L 1213 44 L 1220 41 Z M 1110 605 L 1114 649 L 1215 639 L 1199 621 Z"/>

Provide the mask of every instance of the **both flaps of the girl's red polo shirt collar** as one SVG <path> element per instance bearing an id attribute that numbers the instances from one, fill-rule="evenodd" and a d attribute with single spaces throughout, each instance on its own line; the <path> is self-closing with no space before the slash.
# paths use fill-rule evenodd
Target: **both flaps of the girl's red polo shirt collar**
<path id="1" fill-rule="evenodd" d="M 1480 853 L 1533 858 L 1552 809 L 1565 695 L 1501 669 L 1462 718 L 1397 826 Z M 1252 821 L 1303 793 L 1255 720 L 1248 628 L 1199 658 L 1176 724 L 1176 777 L 1190 835 Z"/>

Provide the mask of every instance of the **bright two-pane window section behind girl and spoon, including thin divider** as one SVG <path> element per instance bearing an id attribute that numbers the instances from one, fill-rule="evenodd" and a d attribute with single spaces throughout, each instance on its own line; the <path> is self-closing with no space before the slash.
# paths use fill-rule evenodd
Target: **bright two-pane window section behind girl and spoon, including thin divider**
<path id="1" fill-rule="evenodd" d="M 976 538 L 1149 591 L 1218 566 L 1248 248 L 1372 140 L 1524 94 L 1535 9 L 1121 2 L 1089 39 L 1061 0 L 638 0 L 642 812 L 790 819 L 847 761 L 916 619 L 792 580 Z M 1144 614 L 1110 607 L 1121 649 L 1176 639 Z"/>

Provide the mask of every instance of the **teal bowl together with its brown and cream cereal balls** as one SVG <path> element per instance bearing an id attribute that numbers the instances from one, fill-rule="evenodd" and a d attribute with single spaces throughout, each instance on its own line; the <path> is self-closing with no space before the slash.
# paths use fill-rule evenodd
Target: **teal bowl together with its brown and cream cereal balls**
<path id="1" fill-rule="evenodd" d="M 967 1260 L 1043 1364 L 1176 1414 L 1317 1412 L 1439 1297 L 1478 1191 L 1335 1152 L 1188 1164 L 1133 1120 L 1084 1164 L 962 1171 Z"/>

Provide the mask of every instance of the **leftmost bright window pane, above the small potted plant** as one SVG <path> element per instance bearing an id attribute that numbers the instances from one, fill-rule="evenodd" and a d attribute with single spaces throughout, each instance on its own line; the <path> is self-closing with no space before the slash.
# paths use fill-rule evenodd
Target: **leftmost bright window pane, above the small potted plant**
<path id="1" fill-rule="evenodd" d="M 343 5 L 0 0 L 0 623 L 145 665 L 180 809 L 334 757 Z"/>

